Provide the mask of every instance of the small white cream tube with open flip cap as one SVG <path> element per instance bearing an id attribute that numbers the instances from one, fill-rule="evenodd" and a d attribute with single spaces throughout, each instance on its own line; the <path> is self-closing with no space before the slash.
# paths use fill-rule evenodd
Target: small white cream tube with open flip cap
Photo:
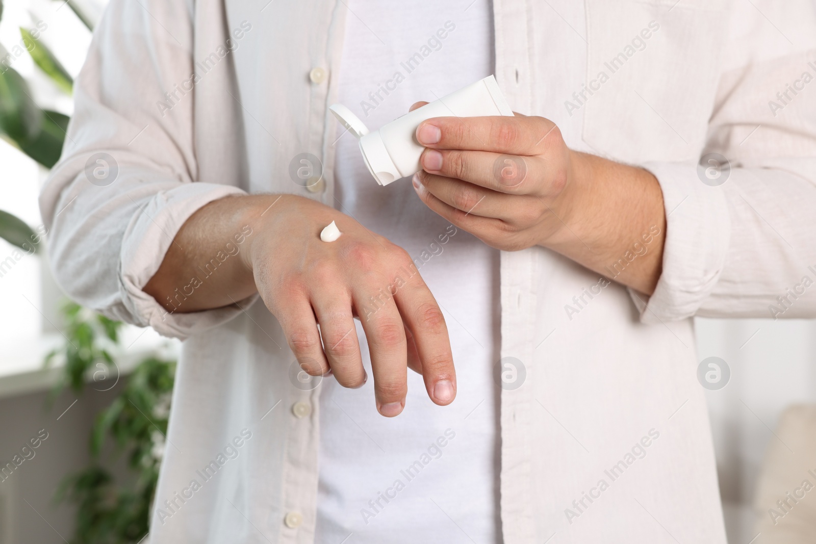
<path id="1" fill-rule="evenodd" d="M 507 100 L 493 76 L 485 77 L 422 108 L 406 113 L 379 130 L 369 133 L 365 124 L 342 104 L 330 108 L 338 121 L 360 139 L 360 151 L 371 175 L 380 185 L 414 175 L 422 166 L 424 147 L 416 141 L 419 123 L 431 117 L 512 117 Z"/>

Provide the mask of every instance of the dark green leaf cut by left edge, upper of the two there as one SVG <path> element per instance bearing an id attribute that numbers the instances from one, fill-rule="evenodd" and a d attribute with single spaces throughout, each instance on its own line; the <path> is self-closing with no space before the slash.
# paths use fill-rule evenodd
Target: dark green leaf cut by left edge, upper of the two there
<path id="1" fill-rule="evenodd" d="M 37 138 L 42 117 L 20 73 L 13 68 L 0 71 L 0 132 L 20 145 Z"/>

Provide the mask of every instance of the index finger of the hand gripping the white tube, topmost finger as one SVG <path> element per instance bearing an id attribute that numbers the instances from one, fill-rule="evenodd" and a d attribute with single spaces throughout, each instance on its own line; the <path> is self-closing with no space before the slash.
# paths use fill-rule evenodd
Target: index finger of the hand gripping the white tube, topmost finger
<path id="1" fill-rule="evenodd" d="M 419 123 L 416 139 L 433 149 L 539 155 L 547 148 L 555 123 L 543 117 L 432 117 Z"/>

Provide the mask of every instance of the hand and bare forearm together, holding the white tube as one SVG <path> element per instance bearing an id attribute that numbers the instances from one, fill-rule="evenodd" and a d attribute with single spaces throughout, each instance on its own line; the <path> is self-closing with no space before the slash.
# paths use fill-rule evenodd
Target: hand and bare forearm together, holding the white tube
<path id="1" fill-rule="evenodd" d="M 434 117 L 416 139 L 426 148 L 416 192 L 456 227 L 499 250 L 542 245 L 604 276 L 645 247 L 610 279 L 654 291 L 666 212 L 648 170 L 570 149 L 543 117 Z"/>

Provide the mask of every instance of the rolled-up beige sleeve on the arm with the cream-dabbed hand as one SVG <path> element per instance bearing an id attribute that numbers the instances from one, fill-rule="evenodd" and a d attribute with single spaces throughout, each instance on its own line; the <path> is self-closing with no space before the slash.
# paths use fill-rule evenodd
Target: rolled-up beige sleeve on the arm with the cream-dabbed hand
<path id="1" fill-rule="evenodd" d="M 109 4 L 74 88 L 63 157 L 40 196 L 64 291 L 113 319 L 176 338 L 241 312 L 170 313 L 142 290 L 190 215 L 244 193 L 197 182 L 193 91 L 178 91 L 193 74 L 192 20 L 193 2 Z"/>

